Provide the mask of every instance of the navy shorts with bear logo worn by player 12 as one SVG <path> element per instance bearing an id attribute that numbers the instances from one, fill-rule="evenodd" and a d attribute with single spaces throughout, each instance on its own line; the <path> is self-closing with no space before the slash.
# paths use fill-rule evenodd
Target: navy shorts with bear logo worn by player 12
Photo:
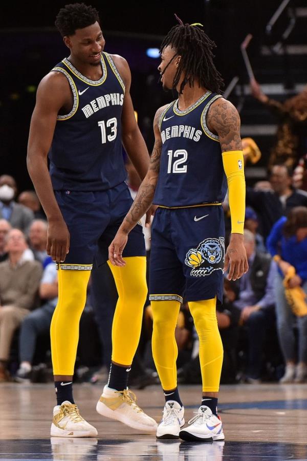
<path id="1" fill-rule="evenodd" d="M 223 297 L 225 224 L 221 205 L 158 208 L 151 226 L 150 300 Z"/>

